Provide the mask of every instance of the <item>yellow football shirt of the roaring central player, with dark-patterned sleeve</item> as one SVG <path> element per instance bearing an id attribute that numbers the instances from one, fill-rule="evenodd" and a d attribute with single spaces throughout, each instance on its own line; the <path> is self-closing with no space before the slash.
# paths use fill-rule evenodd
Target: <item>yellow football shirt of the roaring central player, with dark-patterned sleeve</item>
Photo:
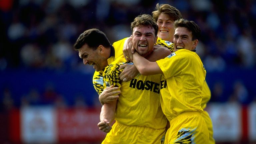
<path id="1" fill-rule="evenodd" d="M 116 122 L 128 126 L 165 129 L 167 119 L 160 105 L 161 75 L 143 76 L 138 74 L 131 81 L 122 82 L 119 79 L 122 70 L 118 70 L 118 68 L 125 63 L 128 62 L 124 56 L 121 56 L 109 64 L 103 73 L 104 88 L 113 84 L 122 92 L 117 101 Z"/>

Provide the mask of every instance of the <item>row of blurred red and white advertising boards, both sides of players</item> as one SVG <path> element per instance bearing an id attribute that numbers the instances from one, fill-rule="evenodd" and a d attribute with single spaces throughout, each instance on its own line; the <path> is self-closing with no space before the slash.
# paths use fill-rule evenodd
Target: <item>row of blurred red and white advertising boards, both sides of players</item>
<path id="1" fill-rule="evenodd" d="M 209 103 L 216 142 L 256 142 L 256 103 Z M 106 133 L 97 127 L 100 107 L 24 107 L 9 114 L 9 138 L 13 143 L 100 143 Z"/>

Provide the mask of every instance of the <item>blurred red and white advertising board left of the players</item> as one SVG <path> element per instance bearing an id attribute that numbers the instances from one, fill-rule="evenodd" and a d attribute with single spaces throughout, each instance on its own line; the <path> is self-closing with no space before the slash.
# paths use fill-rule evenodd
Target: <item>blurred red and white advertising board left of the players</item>
<path id="1" fill-rule="evenodd" d="M 10 114 L 10 139 L 23 143 L 101 142 L 99 108 L 23 107 Z"/>

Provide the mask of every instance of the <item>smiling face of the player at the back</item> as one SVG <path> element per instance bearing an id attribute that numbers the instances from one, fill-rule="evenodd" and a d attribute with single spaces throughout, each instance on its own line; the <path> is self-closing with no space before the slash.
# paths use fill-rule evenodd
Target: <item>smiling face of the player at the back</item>
<path id="1" fill-rule="evenodd" d="M 163 40 L 173 42 L 174 21 L 168 14 L 161 13 L 157 19 L 158 33 L 157 36 Z"/>

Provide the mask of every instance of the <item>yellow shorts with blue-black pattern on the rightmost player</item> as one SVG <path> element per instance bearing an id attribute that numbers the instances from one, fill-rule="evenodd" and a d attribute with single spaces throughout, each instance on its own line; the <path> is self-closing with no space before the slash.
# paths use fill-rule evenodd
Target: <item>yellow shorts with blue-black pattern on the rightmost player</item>
<path id="1" fill-rule="evenodd" d="M 165 144 L 208 144 L 209 132 L 199 112 L 184 112 L 170 121 Z"/>

